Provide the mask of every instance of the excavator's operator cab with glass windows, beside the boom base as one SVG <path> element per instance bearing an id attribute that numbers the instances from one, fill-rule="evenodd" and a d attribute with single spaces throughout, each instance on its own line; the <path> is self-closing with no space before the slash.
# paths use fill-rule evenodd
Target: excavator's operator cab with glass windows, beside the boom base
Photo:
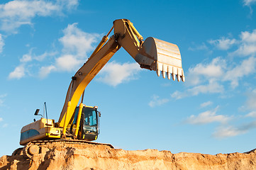
<path id="1" fill-rule="evenodd" d="M 79 108 L 74 111 L 73 125 L 77 124 L 77 115 Z M 99 135 L 99 111 L 97 107 L 84 106 L 79 125 L 78 139 L 79 140 L 96 140 Z"/>

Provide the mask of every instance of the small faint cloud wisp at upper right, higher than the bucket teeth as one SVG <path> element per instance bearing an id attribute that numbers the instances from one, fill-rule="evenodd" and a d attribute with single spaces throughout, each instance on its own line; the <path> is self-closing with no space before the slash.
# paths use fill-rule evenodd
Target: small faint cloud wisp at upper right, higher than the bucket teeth
<path id="1" fill-rule="evenodd" d="M 209 40 L 211 45 L 215 45 L 219 50 L 228 50 L 234 45 L 237 40 L 222 37 L 219 40 Z"/>

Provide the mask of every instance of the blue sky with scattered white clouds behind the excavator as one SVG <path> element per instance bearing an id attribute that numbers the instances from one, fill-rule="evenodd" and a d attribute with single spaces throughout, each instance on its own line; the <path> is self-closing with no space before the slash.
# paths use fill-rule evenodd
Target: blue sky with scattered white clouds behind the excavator
<path id="1" fill-rule="evenodd" d="M 87 86 L 96 142 L 218 154 L 255 149 L 256 1 L 1 1 L 0 156 L 20 147 L 36 108 L 58 120 L 74 73 L 128 18 L 143 38 L 179 46 L 186 81 L 157 77 L 119 50 Z M 38 118 L 37 118 L 38 119 Z"/>

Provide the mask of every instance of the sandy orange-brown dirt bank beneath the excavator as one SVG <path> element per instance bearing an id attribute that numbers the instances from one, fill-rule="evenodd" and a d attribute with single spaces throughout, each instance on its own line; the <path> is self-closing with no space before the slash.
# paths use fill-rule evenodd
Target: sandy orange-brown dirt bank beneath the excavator
<path id="1" fill-rule="evenodd" d="M 55 145 L 33 159 L 23 155 L 0 158 L 2 169 L 256 169 L 256 149 L 233 154 L 172 154 L 146 149 L 126 151 L 103 145 Z"/>

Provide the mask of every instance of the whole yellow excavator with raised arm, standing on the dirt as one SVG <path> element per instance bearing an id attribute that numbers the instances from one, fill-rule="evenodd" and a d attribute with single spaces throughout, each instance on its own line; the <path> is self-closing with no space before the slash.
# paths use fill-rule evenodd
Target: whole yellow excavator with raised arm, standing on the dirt
<path id="1" fill-rule="evenodd" d="M 108 39 L 112 30 L 113 35 Z M 83 104 L 84 89 L 121 47 L 140 64 L 141 68 L 156 71 L 158 77 L 162 73 L 163 78 L 167 75 L 168 79 L 177 78 L 177 81 L 185 81 L 182 58 L 177 45 L 152 37 L 144 41 L 143 36 L 129 20 L 113 21 L 111 30 L 72 77 L 59 120 L 55 122 L 42 116 L 40 120 L 34 120 L 21 129 L 20 145 L 25 145 L 24 155 L 33 157 L 34 154 L 46 152 L 50 149 L 47 145 L 52 142 L 108 145 L 90 142 L 96 140 L 99 135 L 100 113 L 97 111 L 98 107 Z M 35 115 L 38 115 L 38 111 L 39 109 L 35 111 Z M 14 154 L 18 152 L 21 150 Z"/>

